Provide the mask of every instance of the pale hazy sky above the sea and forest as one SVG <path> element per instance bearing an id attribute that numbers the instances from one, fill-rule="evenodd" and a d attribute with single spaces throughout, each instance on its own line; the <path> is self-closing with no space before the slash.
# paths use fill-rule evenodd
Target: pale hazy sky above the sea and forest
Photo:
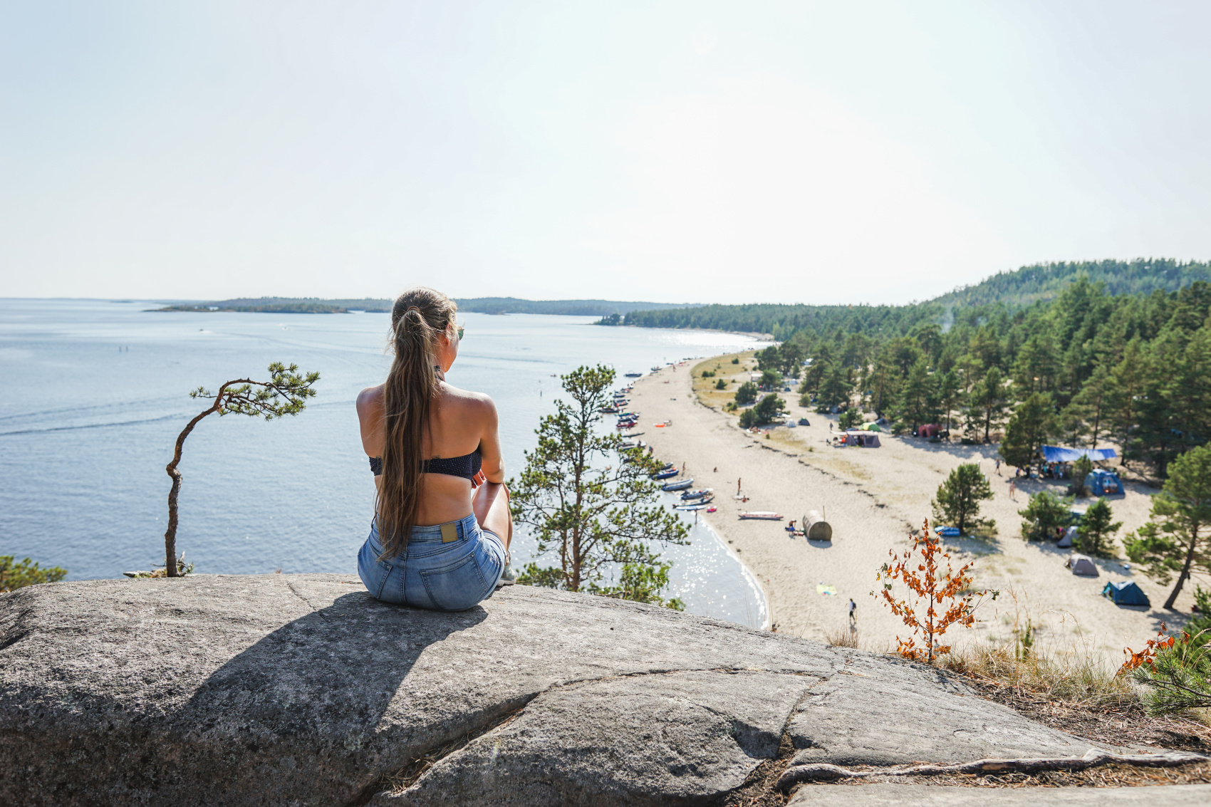
<path id="1" fill-rule="evenodd" d="M 1206 259 L 1207 30 L 1205 0 L 0 0 L 0 296 L 906 302 Z"/>

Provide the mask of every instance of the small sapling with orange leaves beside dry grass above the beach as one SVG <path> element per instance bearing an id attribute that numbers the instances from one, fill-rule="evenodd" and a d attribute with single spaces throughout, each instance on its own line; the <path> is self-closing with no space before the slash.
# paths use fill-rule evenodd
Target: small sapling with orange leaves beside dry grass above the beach
<path id="1" fill-rule="evenodd" d="M 966 563 L 958 571 L 951 568 L 951 555 L 942 551 L 939 537 L 930 533 L 929 519 L 925 519 L 924 527 L 919 532 L 909 533 L 909 538 L 913 544 L 903 555 L 888 550 L 891 562 L 883 565 L 876 579 L 883 582 L 879 595 L 891 608 L 891 613 L 912 628 L 914 635 L 919 634 L 925 643 L 923 648 L 917 647 L 912 636 L 905 641 L 897 635 L 896 651 L 905 658 L 932 663 L 937 656 L 951 649 L 949 645 L 941 645 L 937 637 L 953 624 L 972 626 L 976 622 L 975 609 L 986 596 L 991 595 L 991 599 L 995 600 L 999 591 L 970 590 L 974 578 L 968 571 L 972 563 Z M 945 571 L 939 567 L 941 560 L 946 561 Z M 917 596 L 909 594 L 897 600 L 891 594 L 893 580 L 900 580 Z M 871 596 L 878 595 L 871 591 Z M 920 613 L 922 607 L 925 608 L 924 614 Z"/>

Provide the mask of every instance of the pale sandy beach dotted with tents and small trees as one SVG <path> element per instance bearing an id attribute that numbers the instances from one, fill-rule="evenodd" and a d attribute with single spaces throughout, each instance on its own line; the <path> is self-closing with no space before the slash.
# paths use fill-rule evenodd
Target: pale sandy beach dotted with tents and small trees
<path id="1" fill-rule="evenodd" d="M 705 517 L 761 580 L 779 631 L 823 640 L 828 633 L 848 630 L 846 606 L 853 597 L 862 647 L 884 651 L 894 647 L 897 634 L 907 636 L 899 619 L 871 596 L 878 585 L 874 576 L 889 550 L 908 546 L 909 527 L 930 516 L 930 499 L 949 471 L 970 462 L 980 463 L 992 482 L 994 498 L 983 503 L 981 516 L 995 520 L 997 534 L 946 545 L 955 566 L 975 561 L 976 586 L 998 589 L 1000 597 L 981 607 L 976 628 L 952 628 L 945 637 L 949 643 L 1011 641 L 1015 619 L 1022 624 L 1029 617 L 1039 646 L 1060 653 L 1091 651 L 1117 664 L 1124 646 L 1138 648 L 1161 622 L 1173 628 L 1188 617 L 1193 583 L 1178 597 L 1177 612 L 1164 611 L 1170 586 L 1125 568 L 1121 546 L 1118 560 L 1097 560 L 1100 576 L 1087 578 L 1064 568 L 1068 550 L 1023 540 L 1017 510 L 1040 490 L 1062 494 L 1066 482 L 1018 479 L 1016 500 L 1011 499 L 1012 469 L 1003 467 L 998 476 L 995 446 L 884 435 L 880 448 L 832 447 L 830 424 L 836 428 L 837 416 L 797 406 L 793 393 L 782 397 L 791 416 L 808 418 L 809 427 L 780 427 L 768 437 L 742 431 L 735 416 L 722 412 L 752 366 L 751 354 L 737 355 L 745 360 L 740 365 L 722 356 L 644 376 L 635 383 L 629 408 L 641 414 L 637 430 L 658 457 L 684 465 L 695 487 L 714 488 L 718 510 Z M 701 370 L 716 367 L 718 377 L 733 379 L 727 391 L 714 391 L 717 378 L 700 378 Z M 699 377 L 701 400 L 691 373 Z M 667 427 L 654 425 L 666 420 Z M 747 503 L 733 498 L 737 480 Z M 1125 488 L 1124 497 L 1110 499 L 1115 520 L 1124 522 L 1119 537 L 1147 520 L 1155 492 L 1136 482 Z M 831 543 L 808 542 L 784 530 L 787 520 L 799 520 L 809 509 L 826 513 L 833 527 Z M 736 515 L 741 510 L 774 510 L 784 519 L 741 521 Z M 1101 596 L 1107 580 L 1135 580 L 1152 607 L 1115 606 Z M 832 586 L 836 595 L 817 593 L 820 585 Z"/>

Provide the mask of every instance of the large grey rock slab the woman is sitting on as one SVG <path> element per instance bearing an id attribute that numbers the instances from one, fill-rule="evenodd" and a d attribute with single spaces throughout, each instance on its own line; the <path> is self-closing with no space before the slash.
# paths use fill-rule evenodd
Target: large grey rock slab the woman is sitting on
<path id="1" fill-rule="evenodd" d="M 454 614 L 338 574 L 0 595 L 2 805 L 712 803 L 784 739 L 838 765 L 1090 748 L 919 665 L 528 586 Z"/>

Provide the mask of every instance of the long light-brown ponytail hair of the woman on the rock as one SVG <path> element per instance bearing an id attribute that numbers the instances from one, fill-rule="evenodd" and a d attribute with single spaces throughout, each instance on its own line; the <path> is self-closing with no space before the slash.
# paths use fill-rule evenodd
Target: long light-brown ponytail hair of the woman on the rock
<path id="1" fill-rule="evenodd" d="M 383 385 L 383 477 L 378 500 L 384 559 L 403 551 L 417 522 L 424 433 L 429 406 L 437 396 L 437 345 L 457 310 L 449 297 L 424 286 L 403 292 L 391 307 L 395 361 Z"/>

